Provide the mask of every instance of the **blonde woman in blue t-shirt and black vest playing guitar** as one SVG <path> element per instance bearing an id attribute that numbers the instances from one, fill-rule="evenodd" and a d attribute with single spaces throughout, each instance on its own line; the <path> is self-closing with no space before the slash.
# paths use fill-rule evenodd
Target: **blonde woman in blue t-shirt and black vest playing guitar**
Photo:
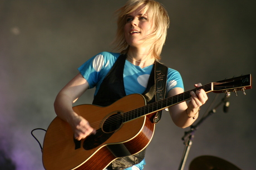
<path id="1" fill-rule="evenodd" d="M 145 94 L 149 84 L 155 84 L 154 80 L 149 79 L 150 75 L 154 74 L 152 69 L 155 62 L 160 60 L 169 27 L 168 13 L 156 1 L 130 0 L 117 11 L 117 15 L 119 18 L 115 44 L 116 49 L 121 52 L 102 52 L 93 56 L 78 68 L 80 73 L 63 87 L 56 97 L 56 114 L 70 124 L 76 140 L 96 133 L 85 117 L 72 110 L 72 104 L 87 89 L 96 87 L 93 104 L 107 106 L 125 95 Z M 121 73 L 122 78 L 113 79 L 118 73 Z M 165 96 L 184 92 L 178 71 L 168 68 L 166 79 Z M 199 86 L 200 83 L 195 85 Z M 199 115 L 199 107 L 207 99 L 203 89 L 192 91 L 188 105 L 181 102 L 169 107 L 173 122 L 181 128 L 190 126 Z M 144 154 L 145 151 L 141 151 L 134 156 L 119 158 L 107 169 L 143 169 Z"/>

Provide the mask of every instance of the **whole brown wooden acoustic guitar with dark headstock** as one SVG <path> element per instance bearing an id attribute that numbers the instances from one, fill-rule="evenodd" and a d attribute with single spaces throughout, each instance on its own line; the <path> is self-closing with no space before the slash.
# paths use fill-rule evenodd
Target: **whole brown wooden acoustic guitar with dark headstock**
<path id="1" fill-rule="evenodd" d="M 132 94 L 107 107 L 78 105 L 73 110 L 90 122 L 96 135 L 77 141 L 70 125 L 56 117 L 47 129 L 43 142 L 43 166 L 56 169 L 104 169 L 119 157 L 130 156 L 149 145 L 155 123 L 151 118 L 157 111 L 190 99 L 190 92 L 237 93 L 251 89 L 251 75 L 242 75 L 209 83 L 181 94 L 146 105 L 144 97 Z"/>

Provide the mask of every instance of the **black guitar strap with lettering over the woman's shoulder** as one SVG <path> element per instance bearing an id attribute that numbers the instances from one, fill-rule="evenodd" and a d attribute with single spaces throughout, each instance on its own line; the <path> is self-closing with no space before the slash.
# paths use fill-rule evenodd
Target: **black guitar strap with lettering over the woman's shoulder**
<path id="1" fill-rule="evenodd" d="M 168 68 L 160 64 L 159 62 L 155 62 L 155 100 L 163 100 L 165 98 L 166 92 L 166 81 L 167 81 Z M 160 121 L 162 116 L 162 111 L 158 111 L 154 117 L 154 123 Z"/>

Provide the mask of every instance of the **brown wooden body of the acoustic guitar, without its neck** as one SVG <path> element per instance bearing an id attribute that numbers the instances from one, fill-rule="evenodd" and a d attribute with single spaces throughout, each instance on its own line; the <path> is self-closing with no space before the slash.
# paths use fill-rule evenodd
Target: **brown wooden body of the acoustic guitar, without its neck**
<path id="1" fill-rule="evenodd" d="M 51 169 L 104 169 L 116 158 L 142 151 L 151 141 L 155 124 L 150 115 L 121 123 L 116 129 L 104 126 L 113 115 L 145 106 L 142 95 L 123 97 L 107 107 L 78 105 L 73 110 L 97 130 L 96 135 L 76 141 L 70 125 L 56 117 L 43 142 L 43 166 Z M 105 121 L 105 125 L 104 125 Z M 103 138 L 103 140 L 102 140 Z"/>

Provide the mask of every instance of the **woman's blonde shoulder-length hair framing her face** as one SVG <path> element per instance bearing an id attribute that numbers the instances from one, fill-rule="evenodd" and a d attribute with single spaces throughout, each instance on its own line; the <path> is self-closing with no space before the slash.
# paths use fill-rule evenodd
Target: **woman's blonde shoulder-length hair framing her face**
<path id="1" fill-rule="evenodd" d="M 116 50 L 121 51 L 122 54 L 126 54 L 129 50 L 129 45 L 125 40 L 124 27 L 126 24 L 127 14 L 134 12 L 142 4 L 145 4 L 144 12 L 147 13 L 148 19 L 152 20 L 153 32 L 145 39 L 151 39 L 152 41 L 152 54 L 155 59 L 159 61 L 161 59 L 161 51 L 163 49 L 167 29 L 169 28 L 170 20 L 168 13 L 164 6 L 159 2 L 153 0 L 129 0 L 124 7 L 121 7 L 116 11 L 117 14 L 117 32 L 116 38 L 113 42 Z"/>

